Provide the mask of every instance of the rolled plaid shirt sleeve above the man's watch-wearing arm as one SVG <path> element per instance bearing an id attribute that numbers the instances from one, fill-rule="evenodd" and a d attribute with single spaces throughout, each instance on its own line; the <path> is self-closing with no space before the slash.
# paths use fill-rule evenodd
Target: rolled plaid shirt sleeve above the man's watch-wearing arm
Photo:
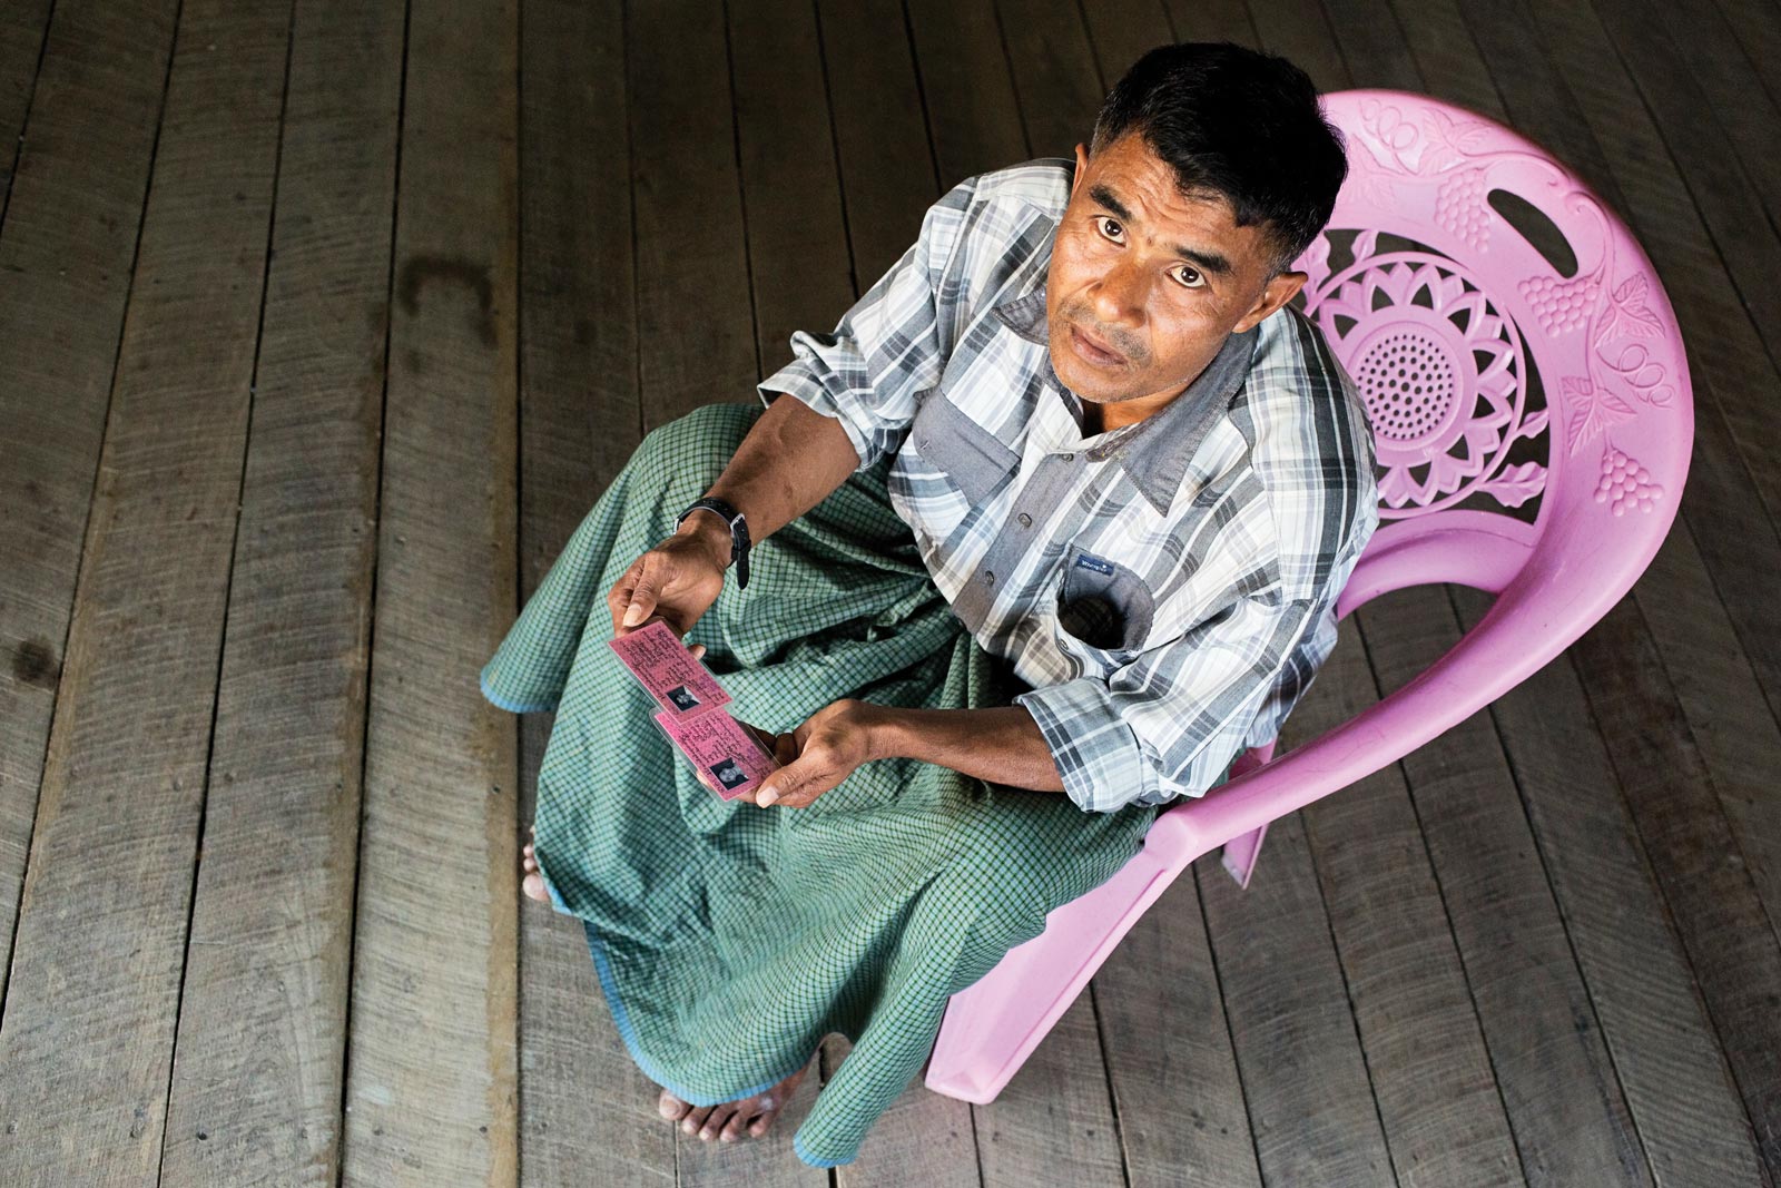
<path id="1" fill-rule="evenodd" d="M 915 394 L 940 381 L 955 313 L 955 303 L 940 297 L 942 276 L 974 191 L 976 178 L 965 178 L 933 203 L 915 242 L 835 330 L 793 331 L 793 362 L 755 385 L 762 404 L 784 392 L 839 420 L 860 458 L 857 470 L 901 445 Z"/>

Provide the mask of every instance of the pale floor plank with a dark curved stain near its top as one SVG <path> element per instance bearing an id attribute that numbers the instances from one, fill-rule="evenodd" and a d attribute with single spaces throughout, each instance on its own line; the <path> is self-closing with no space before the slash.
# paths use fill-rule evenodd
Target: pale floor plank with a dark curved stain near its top
<path id="1" fill-rule="evenodd" d="M 518 1176 L 516 755 L 477 671 L 516 604 L 509 4 L 408 16 L 342 1184 Z"/>

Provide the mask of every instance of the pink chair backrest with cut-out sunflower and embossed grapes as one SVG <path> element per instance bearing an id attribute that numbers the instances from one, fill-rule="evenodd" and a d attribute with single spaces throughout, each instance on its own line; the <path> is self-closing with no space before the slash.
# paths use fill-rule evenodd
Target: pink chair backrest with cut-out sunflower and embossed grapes
<path id="1" fill-rule="evenodd" d="M 1382 518 L 1338 611 L 1526 575 L 1605 613 L 1669 531 L 1694 435 L 1651 262 L 1574 175 L 1484 116 L 1402 91 L 1323 105 L 1348 180 L 1297 267 L 1366 399 Z"/>

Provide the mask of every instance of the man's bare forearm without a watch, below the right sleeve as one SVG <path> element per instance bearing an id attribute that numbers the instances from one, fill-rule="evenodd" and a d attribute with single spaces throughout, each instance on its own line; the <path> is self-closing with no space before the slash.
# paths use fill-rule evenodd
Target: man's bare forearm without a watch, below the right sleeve
<path id="1" fill-rule="evenodd" d="M 1051 746 L 1024 705 L 994 709 L 873 707 L 873 759 L 921 759 L 994 784 L 1061 793 Z"/>

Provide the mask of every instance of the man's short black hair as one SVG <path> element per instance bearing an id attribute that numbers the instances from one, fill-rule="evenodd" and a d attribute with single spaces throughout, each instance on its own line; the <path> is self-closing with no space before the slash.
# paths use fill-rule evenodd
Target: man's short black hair
<path id="1" fill-rule="evenodd" d="M 1222 194 L 1236 224 L 1266 224 L 1272 273 L 1329 223 L 1348 175 L 1341 134 L 1305 71 L 1229 41 L 1156 46 L 1101 103 L 1088 151 L 1140 132 L 1183 194 Z"/>

